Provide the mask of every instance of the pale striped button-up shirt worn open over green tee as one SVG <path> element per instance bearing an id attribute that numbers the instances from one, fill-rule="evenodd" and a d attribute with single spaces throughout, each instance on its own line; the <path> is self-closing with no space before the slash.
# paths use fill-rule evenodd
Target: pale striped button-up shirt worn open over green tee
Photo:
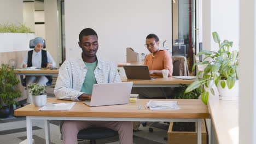
<path id="1" fill-rule="evenodd" d="M 97 66 L 94 70 L 97 83 L 117 83 L 121 82 L 117 65 L 97 57 Z M 83 94 L 81 88 L 84 83 L 88 68 L 84 64 L 82 57 L 66 60 L 60 68 L 59 76 L 54 89 L 57 99 L 78 101 L 78 97 Z"/>

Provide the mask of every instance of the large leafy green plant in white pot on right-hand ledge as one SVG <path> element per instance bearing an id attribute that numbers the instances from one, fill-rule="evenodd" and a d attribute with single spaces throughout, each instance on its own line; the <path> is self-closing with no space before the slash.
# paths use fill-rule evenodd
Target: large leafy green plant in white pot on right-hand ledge
<path id="1" fill-rule="evenodd" d="M 200 86 L 205 86 L 201 94 L 203 103 L 207 105 L 208 95 L 210 91 L 215 95 L 212 86 L 215 84 L 219 98 L 223 100 L 237 100 L 238 99 L 238 52 L 230 51 L 233 45 L 232 41 L 220 41 L 217 32 L 212 33 L 213 40 L 219 45 L 218 52 L 215 51 L 201 51 L 197 55 L 205 55 L 203 62 L 197 62 L 193 65 L 193 70 L 196 65 L 204 65 L 205 69 L 197 73 L 197 79 L 191 83 L 186 89 L 185 93 L 193 91 L 193 89 Z M 211 61 L 208 61 L 211 59 Z M 199 76 L 202 77 L 199 79 Z"/>

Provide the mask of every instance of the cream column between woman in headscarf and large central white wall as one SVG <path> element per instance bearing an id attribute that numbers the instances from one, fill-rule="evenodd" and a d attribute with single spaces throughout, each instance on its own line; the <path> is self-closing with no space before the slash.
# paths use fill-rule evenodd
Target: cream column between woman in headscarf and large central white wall
<path id="1" fill-rule="evenodd" d="M 46 50 L 53 56 L 54 61 L 59 66 L 61 53 L 59 52 L 59 21 L 57 15 L 57 0 L 44 0 L 45 17 L 45 41 Z"/>

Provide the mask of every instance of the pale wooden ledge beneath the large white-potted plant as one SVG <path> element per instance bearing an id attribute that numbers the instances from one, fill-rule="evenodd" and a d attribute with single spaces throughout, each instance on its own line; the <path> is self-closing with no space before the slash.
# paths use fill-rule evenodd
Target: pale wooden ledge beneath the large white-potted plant
<path id="1" fill-rule="evenodd" d="M 239 143 L 238 100 L 219 100 L 211 96 L 211 143 Z"/>

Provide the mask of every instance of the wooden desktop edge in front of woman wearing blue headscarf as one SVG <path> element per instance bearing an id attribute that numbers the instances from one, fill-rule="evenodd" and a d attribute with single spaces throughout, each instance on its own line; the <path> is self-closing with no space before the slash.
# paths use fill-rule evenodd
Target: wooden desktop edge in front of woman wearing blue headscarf
<path id="1" fill-rule="evenodd" d="M 58 75 L 59 69 L 14 70 L 15 75 Z"/>

